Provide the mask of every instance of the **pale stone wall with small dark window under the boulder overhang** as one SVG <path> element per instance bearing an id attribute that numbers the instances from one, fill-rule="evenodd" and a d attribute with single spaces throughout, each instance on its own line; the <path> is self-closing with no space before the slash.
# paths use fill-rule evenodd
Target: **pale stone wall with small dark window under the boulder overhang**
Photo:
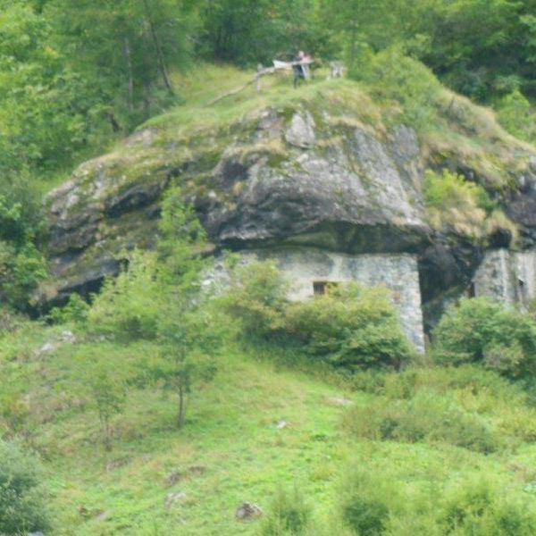
<path id="1" fill-rule="evenodd" d="M 346 255 L 313 248 L 258 250 L 261 259 L 272 258 L 291 283 L 290 299 L 314 295 L 315 281 L 356 281 L 367 287 L 392 290 L 402 328 L 419 352 L 424 351 L 423 313 L 416 255 Z"/>

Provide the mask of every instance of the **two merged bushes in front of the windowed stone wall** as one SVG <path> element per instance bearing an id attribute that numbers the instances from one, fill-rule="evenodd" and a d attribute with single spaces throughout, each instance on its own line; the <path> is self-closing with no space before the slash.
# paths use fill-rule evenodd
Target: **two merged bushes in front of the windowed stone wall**
<path id="1" fill-rule="evenodd" d="M 242 266 L 235 275 L 222 303 L 247 339 L 298 348 L 348 371 L 400 369 L 414 355 L 386 289 L 347 283 L 290 302 L 288 284 L 270 261 Z"/>

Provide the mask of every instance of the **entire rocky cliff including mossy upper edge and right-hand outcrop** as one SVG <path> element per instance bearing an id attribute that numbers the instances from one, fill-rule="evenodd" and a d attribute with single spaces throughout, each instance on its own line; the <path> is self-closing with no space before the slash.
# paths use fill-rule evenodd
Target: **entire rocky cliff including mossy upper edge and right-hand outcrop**
<path id="1" fill-rule="evenodd" d="M 147 128 L 80 166 L 47 199 L 52 279 L 43 302 L 96 289 L 117 272 L 122 249 L 154 246 L 161 198 L 173 184 L 218 248 L 418 254 L 428 324 L 445 298 L 465 287 L 483 247 L 507 245 L 509 235 L 495 230 L 475 243 L 454 230 L 432 230 L 423 205 L 426 168 L 449 167 L 481 182 L 520 227 L 522 244 L 532 243 L 530 148 L 491 136 L 467 155 L 456 142 L 423 140 L 396 121 L 385 127 L 336 97 L 266 105 L 217 128 Z"/>

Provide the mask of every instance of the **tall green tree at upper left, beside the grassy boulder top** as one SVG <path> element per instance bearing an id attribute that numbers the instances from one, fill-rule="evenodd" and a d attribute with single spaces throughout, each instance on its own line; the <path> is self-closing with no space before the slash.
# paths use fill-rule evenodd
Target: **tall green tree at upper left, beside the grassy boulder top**
<path id="1" fill-rule="evenodd" d="M 153 113 L 171 68 L 188 63 L 194 13 L 177 0 L 49 0 L 58 41 L 100 95 L 113 129 Z M 157 104 L 157 103 L 156 103 Z"/>

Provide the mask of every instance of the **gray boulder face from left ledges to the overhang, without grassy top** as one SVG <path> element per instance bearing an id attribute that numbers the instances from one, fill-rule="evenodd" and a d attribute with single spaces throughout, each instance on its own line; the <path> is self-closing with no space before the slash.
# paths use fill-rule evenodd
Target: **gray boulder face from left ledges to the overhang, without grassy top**
<path id="1" fill-rule="evenodd" d="M 195 154 L 179 160 L 175 144 L 159 146 L 148 130 L 121 153 L 80 166 L 47 200 L 54 285 L 44 299 L 94 290 L 118 271 L 121 249 L 154 246 L 171 180 L 186 184 L 216 246 L 284 243 L 349 253 L 423 247 L 430 230 L 415 132 L 399 127 L 382 139 L 330 120 L 304 109 L 288 119 L 267 110 L 206 164 Z"/>

